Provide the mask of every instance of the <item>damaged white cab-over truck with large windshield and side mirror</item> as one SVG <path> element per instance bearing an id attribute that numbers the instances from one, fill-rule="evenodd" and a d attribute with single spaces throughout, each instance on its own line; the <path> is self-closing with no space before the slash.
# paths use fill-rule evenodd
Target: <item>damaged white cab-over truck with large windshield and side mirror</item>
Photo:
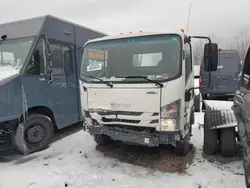
<path id="1" fill-rule="evenodd" d="M 81 101 L 84 126 L 97 144 L 170 144 L 178 154 L 188 153 L 197 89 L 192 38 L 209 41 L 205 70 L 216 70 L 217 44 L 184 32 L 122 34 L 85 44 Z"/>

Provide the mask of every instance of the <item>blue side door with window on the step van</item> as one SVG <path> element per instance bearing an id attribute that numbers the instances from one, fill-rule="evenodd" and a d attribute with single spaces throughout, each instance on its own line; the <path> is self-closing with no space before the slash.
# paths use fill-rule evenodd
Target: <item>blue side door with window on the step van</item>
<path id="1" fill-rule="evenodd" d="M 65 53 L 73 45 L 50 41 L 52 77 L 49 83 L 50 102 L 58 128 L 63 128 L 79 121 L 76 59 L 65 62 Z"/>

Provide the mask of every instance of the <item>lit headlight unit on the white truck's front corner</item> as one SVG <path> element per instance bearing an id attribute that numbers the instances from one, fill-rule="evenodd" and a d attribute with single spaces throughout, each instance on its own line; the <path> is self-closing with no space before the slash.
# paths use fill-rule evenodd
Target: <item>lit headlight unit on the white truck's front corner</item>
<path id="1" fill-rule="evenodd" d="M 177 131 L 180 124 L 181 99 L 161 108 L 161 131 Z"/>

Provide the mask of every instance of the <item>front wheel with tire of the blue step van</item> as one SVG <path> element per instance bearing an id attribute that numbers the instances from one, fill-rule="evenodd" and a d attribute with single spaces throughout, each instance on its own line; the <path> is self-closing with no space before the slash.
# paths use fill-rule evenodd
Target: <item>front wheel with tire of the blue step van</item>
<path id="1" fill-rule="evenodd" d="M 18 125 L 15 134 L 17 150 L 27 155 L 46 148 L 54 135 L 54 127 L 49 117 L 31 114 L 25 123 Z"/>

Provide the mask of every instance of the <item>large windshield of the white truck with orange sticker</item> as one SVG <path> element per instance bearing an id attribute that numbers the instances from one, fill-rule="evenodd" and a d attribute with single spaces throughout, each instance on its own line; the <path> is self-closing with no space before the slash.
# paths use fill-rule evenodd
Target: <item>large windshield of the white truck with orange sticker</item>
<path id="1" fill-rule="evenodd" d="M 99 82 L 158 82 L 180 75 L 181 37 L 157 35 L 88 43 L 83 52 L 81 78 Z"/>

